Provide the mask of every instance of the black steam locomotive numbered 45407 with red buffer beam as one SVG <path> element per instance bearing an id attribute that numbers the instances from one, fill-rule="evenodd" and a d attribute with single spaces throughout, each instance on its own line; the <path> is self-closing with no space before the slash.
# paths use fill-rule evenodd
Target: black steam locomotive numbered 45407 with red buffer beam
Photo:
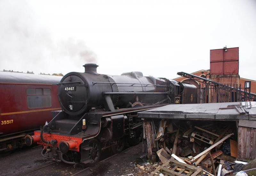
<path id="1" fill-rule="evenodd" d="M 58 87 L 60 111 L 42 130 L 27 135 L 27 145 L 43 145 L 42 156 L 67 164 L 95 165 L 102 150 L 117 153 L 124 144 L 138 144 L 142 122 L 137 112 L 170 103 L 197 103 L 196 86 L 166 78 L 98 74 L 96 64 L 85 72 L 66 74 Z"/>

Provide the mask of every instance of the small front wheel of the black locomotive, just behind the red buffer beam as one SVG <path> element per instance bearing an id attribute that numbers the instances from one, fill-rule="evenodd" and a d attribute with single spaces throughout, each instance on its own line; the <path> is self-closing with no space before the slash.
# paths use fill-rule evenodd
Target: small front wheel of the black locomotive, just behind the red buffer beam
<path id="1" fill-rule="evenodd" d="M 89 151 L 89 158 L 92 160 L 88 165 L 92 166 L 95 165 L 99 159 L 101 154 L 101 148 L 100 143 L 96 139 L 92 139 L 89 141 L 89 146 L 92 147 L 92 149 Z"/>

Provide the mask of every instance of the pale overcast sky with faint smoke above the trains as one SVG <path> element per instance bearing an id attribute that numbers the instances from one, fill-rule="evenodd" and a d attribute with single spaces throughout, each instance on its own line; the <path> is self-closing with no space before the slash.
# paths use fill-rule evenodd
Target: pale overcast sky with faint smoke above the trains
<path id="1" fill-rule="evenodd" d="M 0 70 L 141 71 L 176 78 L 210 68 L 210 49 L 239 47 L 239 74 L 256 80 L 256 1 L 0 0 Z"/>

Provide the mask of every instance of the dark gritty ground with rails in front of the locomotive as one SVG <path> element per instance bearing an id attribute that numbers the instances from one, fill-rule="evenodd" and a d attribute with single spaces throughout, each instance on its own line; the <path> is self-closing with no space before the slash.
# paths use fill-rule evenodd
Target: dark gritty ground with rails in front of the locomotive
<path id="1" fill-rule="evenodd" d="M 146 146 L 145 146 L 146 147 Z M 142 143 L 132 146 L 121 153 L 113 155 L 109 151 L 102 153 L 101 161 L 95 166 L 89 167 L 83 172 L 76 174 L 77 176 L 121 176 L 121 175 L 148 175 L 154 171 L 158 163 L 147 163 L 147 153 L 141 153 Z M 146 149 L 144 149 L 146 151 Z M 41 147 L 34 147 L 16 151 L 6 157 L 0 158 L 1 170 L 0 176 L 17 176 L 22 173 L 39 168 L 43 165 L 52 163 L 41 156 Z M 144 167 L 138 168 L 137 164 Z M 84 167 L 86 168 L 86 167 Z M 84 168 L 74 168 L 73 165 L 64 163 L 54 163 L 36 172 L 26 174 L 26 176 L 62 176 L 72 175 L 82 171 Z M 132 175 L 130 175 L 132 176 Z"/>

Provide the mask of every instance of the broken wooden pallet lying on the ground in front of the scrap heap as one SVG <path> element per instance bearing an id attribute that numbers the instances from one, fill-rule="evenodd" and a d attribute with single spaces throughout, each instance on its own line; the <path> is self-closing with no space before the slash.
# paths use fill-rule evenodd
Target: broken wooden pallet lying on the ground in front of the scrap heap
<path id="1" fill-rule="evenodd" d="M 203 169 L 180 163 L 179 161 L 169 159 L 166 163 L 156 168 L 150 176 L 200 176 L 203 174 Z"/>

